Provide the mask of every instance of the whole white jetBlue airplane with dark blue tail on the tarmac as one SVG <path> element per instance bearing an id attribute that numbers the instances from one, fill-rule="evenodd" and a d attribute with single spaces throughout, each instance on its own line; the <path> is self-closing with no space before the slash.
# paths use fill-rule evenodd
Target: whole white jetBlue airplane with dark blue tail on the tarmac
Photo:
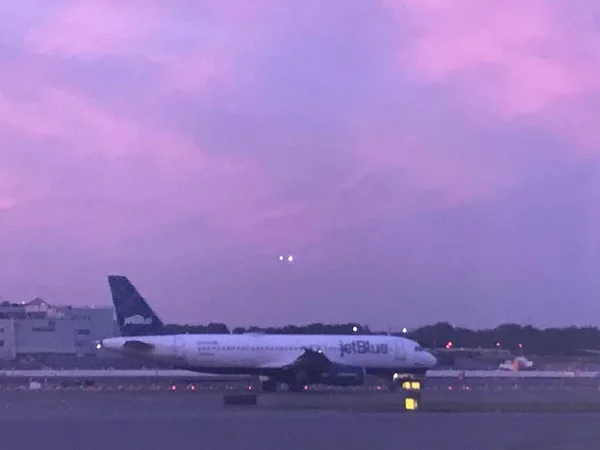
<path id="1" fill-rule="evenodd" d="M 176 369 L 211 374 L 261 376 L 264 391 L 280 384 L 300 392 L 309 385 L 360 386 L 376 375 L 395 389 L 422 377 L 436 358 L 415 341 L 378 335 L 175 334 L 127 277 L 108 282 L 120 337 L 97 348 L 151 360 Z"/>

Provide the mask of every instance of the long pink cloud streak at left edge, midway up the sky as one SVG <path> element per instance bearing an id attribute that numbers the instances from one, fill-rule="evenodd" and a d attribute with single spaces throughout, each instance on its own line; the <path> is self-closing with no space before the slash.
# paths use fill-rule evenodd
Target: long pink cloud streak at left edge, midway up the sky
<path id="1" fill-rule="evenodd" d="M 68 227 L 96 230 L 103 235 L 110 234 L 107 224 L 111 223 L 113 234 L 120 235 L 121 240 L 145 229 L 131 220 L 132 228 L 127 232 L 127 221 L 115 222 L 113 217 L 107 222 L 104 213 L 90 215 L 86 208 L 68 210 L 69 198 L 86 196 L 122 204 L 154 199 L 162 213 L 140 215 L 140 220 L 145 219 L 143 223 L 152 226 L 198 211 L 213 214 L 213 220 L 221 223 L 220 216 L 231 216 L 230 208 L 238 216 L 248 210 L 252 189 L 245 190 L 244 200 L 239 199 L 239 190 L 256 178 L 247 165 L 208 154 L 186 136 L 119 116 L 72 92 L 40 90 L 30 101 L 4 97 L 0 101 L 0 118 L 0 137 L 6 137 L 10 131 L 13 136 L 56 142 L 52 149 L 36 153 L 42 156 L 52 152 L 44 159 L 60 161 L 62 172 L 59 175 L 48 168 L 42 177 L 22 172 L 2 177 L 0 199 L 3 208 L 14 210 L 15 221 L 5 221 L 12 229 L 33 223 L 42 223 L 49 229 L 64 228 L 60 224 L 67 217 Z M 11 141 L 19 144 L 18 137 Z M 0 161 L 6 158 L 10 167 L 10 159 L 19 158 L 18 151 L 0 155 Z M 260 180 L 256 179 L 253 185 L 260 186 Z M 170 196 L 174 198 L 162 200 Z M 43 199 L 47 199 L 47 205 L 38 203 Z M 57 203 L 59 200 L 66 203 Z M 28 202 L 35 202 L 32 208 L 27 207 Z M 20 209 L 21 204 L 24 207 Z M 83 205 L 79 203 L 79 207 Z M 61 208 L 66 209 L 57 213 Z M 235 214 L 231 218 L 234 217 Z M 116 233 L 118 229 L 120 233 Z"/>

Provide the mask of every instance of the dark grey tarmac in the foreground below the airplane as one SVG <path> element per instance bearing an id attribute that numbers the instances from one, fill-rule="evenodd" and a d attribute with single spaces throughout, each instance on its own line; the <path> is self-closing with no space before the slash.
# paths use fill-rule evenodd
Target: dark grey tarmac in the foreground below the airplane
<path id="1" fill-rule="evenodd" d="M 258 407 L 231 408 L 210 392 L 1 392 L 0 448 L 587 450 L 600 443 L 600 414 L 295 408 L 397 400 L 387 392 L 305 394 L 266 394 Z"/>

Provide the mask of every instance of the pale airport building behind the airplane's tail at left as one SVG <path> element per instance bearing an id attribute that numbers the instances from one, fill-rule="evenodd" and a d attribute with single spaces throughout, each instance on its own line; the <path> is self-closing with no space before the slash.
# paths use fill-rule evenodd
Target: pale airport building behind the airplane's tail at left
<path id="1" fill-rule="evenodd" d="M 114 309 L 52 306 L 42 299 L 0 303 L 0 360 L 83 356 L 98 339 L 117 335 Z"/>

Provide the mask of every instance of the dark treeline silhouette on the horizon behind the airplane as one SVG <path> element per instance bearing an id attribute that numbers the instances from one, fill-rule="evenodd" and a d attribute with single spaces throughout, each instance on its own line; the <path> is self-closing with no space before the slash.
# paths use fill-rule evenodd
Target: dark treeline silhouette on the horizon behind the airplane
<path id="1" fill-rule="evenodd" d="M 284 327 L 237 327 L 230 330 L 223 323 L 208 325 L 167 325 L 166 332 L 175 333 L 265 333 L 265 334 L 391 334 L 414 339 L 428 348 L 502 348 L 536 355 L 579 355 L 586 350 L 600 351 L 600 330 L 595 327 L 539 329 L 530 325 L 503 324 L 493 329 L 470 330 L 439 322 L 401 331 L 371 331 L 357 323 L 287 325 Z"/>

